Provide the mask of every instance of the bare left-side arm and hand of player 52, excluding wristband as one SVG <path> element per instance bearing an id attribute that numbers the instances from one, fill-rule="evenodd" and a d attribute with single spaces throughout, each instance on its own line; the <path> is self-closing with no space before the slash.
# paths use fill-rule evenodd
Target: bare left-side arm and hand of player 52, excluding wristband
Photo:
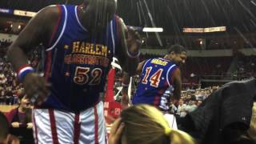
<path id="1" fill-rule="evenodd" d="M 38 12 L 34 18 L 30 20 L 27 26 L 19 34 L 18 38 L 7 51 L 7 56 L 14 66 L 14 69 L 18 69 L 28 64 L 27 53 L 33 50 L 35 46 L 42 43 L 47 46 L 50 42 L 50 35 L 54 29 L 54 25 L 58 19 L 57 6 L 48 6 Z M 28 98 L 32 98 L 34 94 L 38 94 L 41 98 L 38 98 L 38 102 L 45 99 L 48 90 L 46 88 L 47 83 L 44 78 L 39 77 L 36 73 L 27 73 L 22 80 L 25 93 Z M 41 99 L 41 100 L 40 100 Z"/>

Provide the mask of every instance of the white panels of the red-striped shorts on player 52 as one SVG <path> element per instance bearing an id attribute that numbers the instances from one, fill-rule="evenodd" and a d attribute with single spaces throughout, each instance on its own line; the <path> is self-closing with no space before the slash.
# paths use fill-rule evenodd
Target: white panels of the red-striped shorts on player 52
<path id="1" fill-rule="evenodd" d="M 98 115 L 98 143 L 106 144 L 106 126 L 103 114 L 103 102 L 96 106 Z M 96 144 L 94 107 L 80 112 L 80 135 L 78 143 Z M 50 114 L 48 109 L 34 109 L 34 125 L 37 129 L 38 144 L 54 143 L 51 134 Z M 74 117 L 71 112 L 54 110 L 55 125 L 59 144 L 74 144 Z M 34 130 L 34 138 L 35 130 Z M 37 143 L 37 142 L 36 142 Z"/>

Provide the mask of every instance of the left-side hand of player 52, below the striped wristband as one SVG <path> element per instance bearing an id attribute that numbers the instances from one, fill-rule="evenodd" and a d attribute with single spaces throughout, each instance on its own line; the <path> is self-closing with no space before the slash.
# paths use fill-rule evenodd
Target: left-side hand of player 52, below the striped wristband
<path id="1" fill-rule="evenodd" d="M 23 81 L 24 91 L 31 102 L 41 105 L 50 93 L 50 84 L 37 73 L 26 74 Z"/>

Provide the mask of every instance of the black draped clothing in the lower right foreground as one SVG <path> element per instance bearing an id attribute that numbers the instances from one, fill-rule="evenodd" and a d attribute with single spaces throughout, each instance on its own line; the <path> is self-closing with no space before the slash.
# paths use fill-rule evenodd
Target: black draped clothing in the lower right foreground
<path id="1" fill-rule="evenodd" d="M 197 110 L 187 114 L 182 127 L 202 143 L 223 143 L 227 131 L 235 133 L 238 130 L 240 134 L 250 127 L 255 96 L 255 79 L 227 83 L 202 102 Z M 235 136 L 231 134 L 231 137 Z"/>

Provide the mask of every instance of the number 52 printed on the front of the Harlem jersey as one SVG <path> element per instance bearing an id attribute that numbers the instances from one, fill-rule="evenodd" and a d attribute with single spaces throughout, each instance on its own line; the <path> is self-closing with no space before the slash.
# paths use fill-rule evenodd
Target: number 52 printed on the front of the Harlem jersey
<path id="1" fill-rule="evenodd" d="M 89 75 L 90 74 L 90 75 Z M 95 68 L 90 71 L 89 67 L 77 66 L 74 73 L 74 82 L 78 85 L 98 85 L 101 83 L 102 69 Z"/>

